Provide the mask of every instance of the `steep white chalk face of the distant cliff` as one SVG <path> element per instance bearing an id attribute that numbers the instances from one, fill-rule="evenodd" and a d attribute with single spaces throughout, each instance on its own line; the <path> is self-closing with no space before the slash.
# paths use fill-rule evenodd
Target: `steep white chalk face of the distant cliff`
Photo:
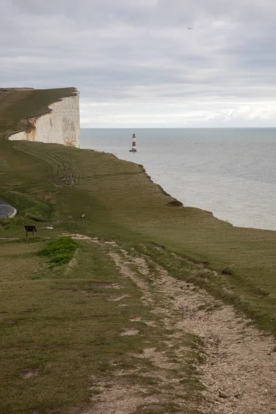
<path id="1" fill-rule="evenodd" d="M 48 105 L 48 113 L 26 118 L 26 128 L 10 140 L 28 139 L 79 147 L 79 92 Z"/>

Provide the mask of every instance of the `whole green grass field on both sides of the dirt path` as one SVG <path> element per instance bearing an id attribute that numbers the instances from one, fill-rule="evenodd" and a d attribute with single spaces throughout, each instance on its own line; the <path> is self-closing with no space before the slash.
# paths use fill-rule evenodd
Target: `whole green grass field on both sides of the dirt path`
<path id="1" fill-rule="evenodd" d="M 37 254 L 66 233 L 116 242 L 118 251 L 143 255 L 176 278 L 203 286 L 260 329 L 276 333 L 274 231 L 236 228 L 204 210 L 174 206 L 141 166 L 57 144 L 0 141 L 0 198 L 21 213 L 0 221 L 0 237 L 14 238 L 0 240 L 3 414 L 81 413 L 76 407 L 90 401 L 91 388 L 99 392 L 92 374 L 109 378 L 115 363 L 133 368 L 128 351 L 141 353 L 156 337 L 162 349 L 165 333 L 158 325 L 137 322 L 143 335 L 118 336 L 132 315 L 149 318 L 151 308 L 141 306 L 132 282 L 120 278 L 108 244 L 77 241 L 72 269 L 70 257 L 62 262 L 62 246 L 56 255 L 61 266 L 59 259 Z M 34 239 L 24 237 L 26 223 L 37 226 Z M 197 271 L 191 271 L 194 264 Z M 126 307 L 110 301 L 118 283 L 128 295 Z M 196 339 L 183 340 L 189 358 L 197 359 Z M 199 380 L 187 360 L 185 399 L 200 400 Z M 40 374 L 26 382 L 20 373 L 34 367 Z M 149 369 L 141 363 L 143 372 Z M 128 377 L 152 390 L 155 380 Z M 133 412 L 177 412 L 172 405 Z"/>

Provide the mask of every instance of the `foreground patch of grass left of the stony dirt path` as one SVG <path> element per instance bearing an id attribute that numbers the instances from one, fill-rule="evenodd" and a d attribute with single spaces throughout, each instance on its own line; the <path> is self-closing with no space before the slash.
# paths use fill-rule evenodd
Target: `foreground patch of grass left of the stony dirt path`
<path id="1" fill-rule="evenodd" d="M 22 250 L 25 247 L 22 245 Z M 30 245 L 28 252 L 29 248 Z M 57 280 L 57 273 L 46 270 L 41 279 L 33 279 L 34 270 L 40 273 L 43 263 L 39 257 L 23 259 L 21 255 L 21 273 L 10 262 L 6 280 L 10 276 L 13 280 L 1 286 L 5 304 L 1 315 L 1 333 L 5 338 L 1 413 L 29 413 L 34 408 L 46 413 L 64 402 L 70 406 L 88 401 L 91 373 L 110 371 L 112 359 L 120 358 L 129 348 L 124 337 L 118 336 L 128 314 L 120 312 L 114 302 L 108 302 L 115 292 L 102 289 L 91 292 L 92 295 L 79 293 L 97 280 L 97 265 L 89 266 L 90 254 L 91 250 L 88 253 L 83 248 L 84 268 L 80 266 L 66 280 Z M 99 251 L 97 257 L 105 262 L 106 281 L 117 281 L 117 272 L 108 257 Z M 130 312 L 133 310 L 132 307 Z M 20 373 L 26 368 L 39 368 L 39 377 L 28 382 L 22 379 Z M 26 389 L 28 398 L 24 398 Z"/>

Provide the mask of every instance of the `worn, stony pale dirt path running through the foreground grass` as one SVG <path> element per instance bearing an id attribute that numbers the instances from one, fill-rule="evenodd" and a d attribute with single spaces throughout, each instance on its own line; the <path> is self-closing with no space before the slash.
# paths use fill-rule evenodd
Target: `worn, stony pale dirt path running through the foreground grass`
<path id="1" fill-rule="evenodd" d="M 87 239 L 107 246 L 105 242 L 81 235 L 75 238 Z M 148 360 L 155 367 L 152 375 L 158 378 L 159 393 L 148 393 L 148 387 L 131 386 L 121 382 L 128 372 L 117 372 L 109 387 L 99 380 L 101 395 L 91 410 L 83 414 L 130 414 L 141 407 L 158 411 L 158 404 L 169 402 L 166 413 L 213 414 L 266 414 L 276 413 L 276 352 L 275 339 L 262 335 L 249 325 L 248 319 L 237 316 L 232 306 L 224 306 L 204 290 L 192 284 L 170 277 L 166 270 L 157 266 L 158 274 L 150 273 L 144 257 L 130 255 L 110 244 L 110 257 L 119 268 L 122 277 L 128 277 L 142 293 L 141 302 L 150 306 L 148 326 L 159 324 L 167 332 L 162 339 L 165 351 L 159 351 L 156 344 L 149 343 L 143 354 L 132 355 L 139 360 Z M 135 270 L 134 270 L 135 269 Z M 118 303 L 124 302 L 121 297 Z M 133 317 L 132 322 L 141 318 Z M 133 329 L 123 335 L 137 335 Z M 193 357 L 193 368 L 201 384 L 203 399 L 185 399 L 188 384 L 187 366 L 190 364 L 184 339 L 190 335 L 197 338 L 197 349 L 201 358 Z M 177 373 L 177 375 L 176 375 Z M 179 377 L 187 381 L 179 381 Z M 144 404 L 144 405 L 143 405 Z M 155 411 L 154 411 L 155 410 Z M 198 412 L 199 412 L 198 411 Z M 146 412 L 146 411 L 145 411 Z"/>

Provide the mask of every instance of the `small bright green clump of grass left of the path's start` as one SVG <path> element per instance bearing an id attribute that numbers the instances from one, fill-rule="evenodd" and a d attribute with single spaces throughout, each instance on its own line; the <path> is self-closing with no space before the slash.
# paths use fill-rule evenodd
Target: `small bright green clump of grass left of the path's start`
<path id="1" fill-rule="evenodd" d="M 50 242 L 40 250 L 37 254 L 40 256 L 47 256 L 50 263 L 61 266 L 70 262 L 77 250 L 77 242 L 71 237 L 60 237 L 60 239 Z"/>

